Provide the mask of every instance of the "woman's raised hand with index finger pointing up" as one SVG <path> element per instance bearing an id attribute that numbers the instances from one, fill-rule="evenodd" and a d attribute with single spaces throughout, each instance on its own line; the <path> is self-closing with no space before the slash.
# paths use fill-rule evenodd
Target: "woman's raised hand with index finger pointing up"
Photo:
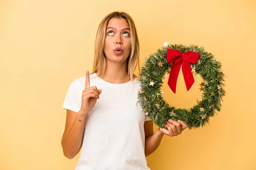
<path id="1" fill-rule="evenodd" d="M 102 89 L 97 89 L 96 86 L 90 87 L 89 71 L 86 71 L 85 88 L 82 93 L 81 109 L 82 113 L 88 114 L 96 104 Z"/>

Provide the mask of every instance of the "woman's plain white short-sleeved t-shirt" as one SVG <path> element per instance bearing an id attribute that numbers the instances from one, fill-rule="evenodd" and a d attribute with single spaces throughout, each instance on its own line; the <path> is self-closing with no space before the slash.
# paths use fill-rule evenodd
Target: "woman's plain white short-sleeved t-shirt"
<path id="1" fill-rule="evenodd" d="M 78 112 L 85 77 L 68 88 L 62 108 Z M 150 120 L 137 98 L 140 82 L 113 84 L 90 74 L 90 87 L 102 89 L 85 122 L 76 170 L 150 170 L 145 159 L 144 122 Z"/>

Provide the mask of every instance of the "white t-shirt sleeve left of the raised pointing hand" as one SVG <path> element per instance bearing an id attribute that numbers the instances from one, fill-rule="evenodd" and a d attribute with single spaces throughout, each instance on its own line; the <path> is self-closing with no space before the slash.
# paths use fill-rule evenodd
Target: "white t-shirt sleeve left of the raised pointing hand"
<path id="1" fill-rule="evenodd" d="M 77 79 L 71 82 L 67 90 L 67 94 L 64 99 L 62 108 L 68 109 L 70 111 L 74 111 L 77 113 L 81 109 L 81 101 L 79 101 L 76 81 Z"/>

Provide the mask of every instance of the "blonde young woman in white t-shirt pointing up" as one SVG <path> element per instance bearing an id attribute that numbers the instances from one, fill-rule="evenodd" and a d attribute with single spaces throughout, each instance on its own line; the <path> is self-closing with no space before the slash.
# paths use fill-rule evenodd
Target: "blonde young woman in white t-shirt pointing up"
<path id="1" fill-rule="evenodd" d="M 163 135 L 177 136 L 183 121 L 169 120 L 153 132 L 137 93 L 134 70 L 139 63 L 139 40 L 131 17 L 108 14 L 100 23 L 93 71 L 75 79 L 62 108 L 67 118 L 61 145 L 64 156 L 81 155 L 76 170 L 150 170 L 145 156 L 159 146 Z"/>

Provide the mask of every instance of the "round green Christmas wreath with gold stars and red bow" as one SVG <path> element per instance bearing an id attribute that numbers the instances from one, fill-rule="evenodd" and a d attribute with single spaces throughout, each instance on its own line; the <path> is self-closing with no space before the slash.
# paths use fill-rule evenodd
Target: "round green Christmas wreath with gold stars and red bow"
<path id="1" fill-rule="evenodd" d="M 154 124 L 166 128 L 168 119 L 183 120 L 189 129 L 209 124 L 209 118 L 215 115 L 215 110 L 220 111 L 222 97 L 225 96 L 224 74 L 221 71 L 221 63 L 216 61 L 211 53 L 204 47 L 182 44 L 168 45 L 157 49 L 148 58 L 138 76 L 140 91 L 138 99 L 145 114 L 154 119 Z M 182 66 L 181 66 L 182 65 Z M 189 109 L 175 108 L 169 105 L 161 94 L 163 79 L 169 74 L 168 85 L 176 93 L 177 77 L 182 67 L 183 77 L 187 91 L 195 82 L 193 74 L 202 78 L 202 91 L 200 101 Z M 167 129 L 167 128 L 166 128 Z"/>

